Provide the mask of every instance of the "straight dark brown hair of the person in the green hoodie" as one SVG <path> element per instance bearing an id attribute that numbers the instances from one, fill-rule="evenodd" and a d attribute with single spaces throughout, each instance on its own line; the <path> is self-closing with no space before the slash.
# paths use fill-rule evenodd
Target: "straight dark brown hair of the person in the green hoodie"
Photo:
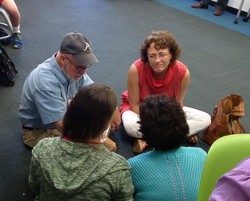
<path id="1" fill-rule="evenodd" d="M 110 87 L 103 84 L 83 87 L 64 116 L 63 136 L 83 142 L 98 137 L 107 128 L 116 106 L 116 95 Z"/>

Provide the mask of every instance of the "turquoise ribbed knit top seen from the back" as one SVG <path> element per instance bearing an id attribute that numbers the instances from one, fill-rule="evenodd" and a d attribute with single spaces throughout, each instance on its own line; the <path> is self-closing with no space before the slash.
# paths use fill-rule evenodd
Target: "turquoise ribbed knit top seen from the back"
<path id="1" fill-rule="evenodd" d="M 206 152 L 180 147 L 128 160 L 136 201 L 196 201 Z"/>

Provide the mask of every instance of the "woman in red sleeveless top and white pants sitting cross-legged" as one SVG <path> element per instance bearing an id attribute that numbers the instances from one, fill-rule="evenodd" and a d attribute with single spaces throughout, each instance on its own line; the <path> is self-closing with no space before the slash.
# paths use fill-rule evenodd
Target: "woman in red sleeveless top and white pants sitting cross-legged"
<path id="1" fill-rule="evenodd" d="M 127 91 L 122 94 L 120 107 L 125 131 L 137 138 L 133 151 L 141 153 L 146 147 L 138 131 L 139 105 L 146 96 L 153 94 L 164 94 L 179 101 L 189 125 L 188 140 L 196 143 L 196 134 L 210 125 L 211 117 L 206 112 L 184 106 L 190 72 L 178 60 L 181 49 L 175 37 L 168 31 L 152 32 L 142 43 L 140 53 L 141 58 L 129 68 Z"/>

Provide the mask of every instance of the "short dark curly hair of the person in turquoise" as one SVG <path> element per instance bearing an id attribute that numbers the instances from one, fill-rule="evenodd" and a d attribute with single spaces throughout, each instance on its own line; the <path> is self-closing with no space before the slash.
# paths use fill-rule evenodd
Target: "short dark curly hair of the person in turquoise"
<path id="1" fill-rule="evenodd" d="M 140 131 L 147 144 L 157 151 L 181 146 L 189 127 L 179 102 L 164 95 L 151 95 L 140 105 Z"/>

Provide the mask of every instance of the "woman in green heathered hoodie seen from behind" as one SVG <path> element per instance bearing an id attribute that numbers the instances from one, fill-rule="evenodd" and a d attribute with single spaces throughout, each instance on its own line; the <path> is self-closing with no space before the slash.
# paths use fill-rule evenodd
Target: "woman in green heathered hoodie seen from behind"
<path id="1" fill-rule="evenodd" d="M 63 136 L 45 138 L 32 150 L 29 184 L 36 200 L 133 200 L 126 159 L 103 145 L 116 106 L 115 93 L 102 84 L 76 94 Z"/>

